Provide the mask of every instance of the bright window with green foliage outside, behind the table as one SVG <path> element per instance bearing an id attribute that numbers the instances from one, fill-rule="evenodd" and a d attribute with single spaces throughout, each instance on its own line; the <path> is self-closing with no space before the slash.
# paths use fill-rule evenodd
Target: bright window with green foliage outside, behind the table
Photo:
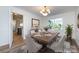
<path id="1" fill-rule="evenodd" d="M 56 18 L 56 19 L 50 19 L 48 26 L 55 30 L 60 30 L 60 29 L 62 29 L 62 25 L 63 25 L 63 19 Z"/>

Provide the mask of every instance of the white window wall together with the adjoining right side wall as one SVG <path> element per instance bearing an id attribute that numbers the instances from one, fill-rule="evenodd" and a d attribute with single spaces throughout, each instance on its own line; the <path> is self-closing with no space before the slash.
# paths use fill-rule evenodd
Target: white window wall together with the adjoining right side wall
<path id="1" fill-rule="evenodd" d="M 73 38 L 76 40 L 77 44 L 79 45 L 79 28 L 77 28 L 77 16 L 79 14 L 79 8 L 72 12 L 62 13 L 58 15 L 52 15 L 49 17 L 43 17 L 41 19 L 41 26 L 45 27 L 48 25 L 49 19 L 54 18 L 63 18 L 63 25 L 66 26 L 67 24 L 73 24 L 74 31 L 73 31 Z"/>

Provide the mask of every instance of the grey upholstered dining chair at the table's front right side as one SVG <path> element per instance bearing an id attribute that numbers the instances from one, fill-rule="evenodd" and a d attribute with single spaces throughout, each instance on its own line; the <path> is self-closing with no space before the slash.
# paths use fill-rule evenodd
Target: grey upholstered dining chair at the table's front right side
<path id="1" fill-rule="evenodd" d="M 50 48 L 53 49 L 55 52 L 64 52 L 64 40 L 65 36 L 62 35 L 60 38 L 57 38 L 58 41 L 54 42 Z"/>

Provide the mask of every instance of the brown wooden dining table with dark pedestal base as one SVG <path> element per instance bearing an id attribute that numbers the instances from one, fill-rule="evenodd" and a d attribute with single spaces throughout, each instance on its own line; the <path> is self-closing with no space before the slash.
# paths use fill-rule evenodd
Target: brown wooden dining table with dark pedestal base
<path id="1" fill-rule="evenodd" d="M 37 43 L 42 45 L 42 49 L 47 48 L 47 45 L 51 45 L 58 36 L 58 32 L 36 32 L 31 35 L 31 37 Z"/>

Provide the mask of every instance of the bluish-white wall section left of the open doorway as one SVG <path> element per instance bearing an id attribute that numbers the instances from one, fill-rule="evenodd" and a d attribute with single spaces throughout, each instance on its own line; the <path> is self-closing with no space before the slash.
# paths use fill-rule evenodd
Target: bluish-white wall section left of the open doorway
<path id="1" fill-rule="evenodd" d="M 0 46 L 9 43 L 9 7 L 0 7 Z"/>

